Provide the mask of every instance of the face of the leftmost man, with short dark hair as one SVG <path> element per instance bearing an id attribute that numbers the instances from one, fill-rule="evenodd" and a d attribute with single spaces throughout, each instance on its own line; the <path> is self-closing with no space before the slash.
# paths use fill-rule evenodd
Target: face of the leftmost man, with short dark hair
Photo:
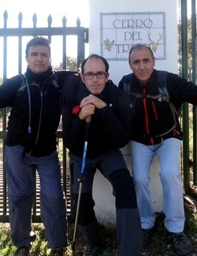
<path id="1" fill-rule="evenodd" d="M 33 73 L 44 73 L 50 66 L 50 50 L 44 45 L 29 47 L 28 55 L 25 58 Z"/>

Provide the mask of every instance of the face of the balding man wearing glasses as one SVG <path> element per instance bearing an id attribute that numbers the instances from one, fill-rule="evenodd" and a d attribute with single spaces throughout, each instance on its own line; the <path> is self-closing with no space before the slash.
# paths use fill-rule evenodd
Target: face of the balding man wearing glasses
<path id="1" fill-rule="evenodd" d="M 86 74 L 90 73 L 105 73 L 102 78 L 98 78 L 96 75 L 92 79 L 88 79 Z M 103 91 L 108 81 L 109 73 L 106 73 L 106 66 L 100 58 L 88 59 L 84 65 L 84 75 L 81 74 L 81 79 L 84 81 L 87 89 L 92 94 L 99 94 Z"/>

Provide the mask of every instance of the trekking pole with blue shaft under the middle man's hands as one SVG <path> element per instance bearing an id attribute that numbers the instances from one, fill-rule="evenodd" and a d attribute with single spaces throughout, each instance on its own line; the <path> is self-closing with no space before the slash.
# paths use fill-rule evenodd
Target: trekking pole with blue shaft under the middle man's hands
<path id="1" fill-rule="evenodd" d="M 87 119 L 86 119 L 84 153 L 83 153 L 83 158 L 82 158 L 80 180 L 79 180 L 80 188 L 79 188 L 78 200 L 77 200 L 77 205 L 76 205 L 76 218 L 75 218 L 75 226 L 74 226 L 74 232 L 73 232 L 73 238 L 72 238 L 72 255 L 74 255 L 75 246 L 76 246 L 76 226 L 77 226 L 79 210 L 80 210 L 80 198 L 81 198 L 82 183 L 84 182 L 84 168 L 85 168 L 86 152 L 87 152 L 87 137 L 88 137 L 88 132 L 89 132 L 90 126 L 91 126 L 91 115 L 87 116 Z"/>

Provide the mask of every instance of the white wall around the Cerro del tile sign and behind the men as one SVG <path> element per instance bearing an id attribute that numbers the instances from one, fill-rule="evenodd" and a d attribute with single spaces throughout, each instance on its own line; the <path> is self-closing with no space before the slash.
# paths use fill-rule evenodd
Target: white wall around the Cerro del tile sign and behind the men
<path id="1" fill-rule="evenodd" d="M 165 58 L 156 59 L 157 70 L 167 70 L 177 73 L 177 0 L 89 0 L 89 54 L 102 55 L 101 50 L 101 19 L 100 13 L 165 13 Z M 106 24 L 105 24 L 106 25 Z M 142 42 L 144 43 L 144 42 Z M 106 57 L 103 55 L 103 57 Z M 125 74 L 130 73 L 128 59 L 111 61 L 110 79 L 117 85 Z M 122 150 L 128 168 L 130 166 L 130 150 L 126 146 Z M 162 211 L 162 186 L 158 177 L 159 164 L 154 158 L 151 165 L 151 195 L 155 212 Z M 110 183 L 102 177 L 99 171 L 95 175 L 93 186 L 95 212 L 102 224 L 115 223 L 115 206 Z"/>

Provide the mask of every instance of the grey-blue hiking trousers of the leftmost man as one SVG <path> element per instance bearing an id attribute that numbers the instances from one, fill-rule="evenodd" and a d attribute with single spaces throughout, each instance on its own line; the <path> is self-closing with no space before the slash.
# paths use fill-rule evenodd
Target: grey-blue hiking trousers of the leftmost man
<path id="1" fill-rule="evenodd" d="M 20 145 L 6 146 L 5 164 L 13 244 L 22 247 L 35 240 L 32 232 L 32 205 L 36 169 L 39 173 L 40 209 L 48 247 L 66 247 L 66 208 L 58 153 L 34 157 L 25 153 Z"/>

